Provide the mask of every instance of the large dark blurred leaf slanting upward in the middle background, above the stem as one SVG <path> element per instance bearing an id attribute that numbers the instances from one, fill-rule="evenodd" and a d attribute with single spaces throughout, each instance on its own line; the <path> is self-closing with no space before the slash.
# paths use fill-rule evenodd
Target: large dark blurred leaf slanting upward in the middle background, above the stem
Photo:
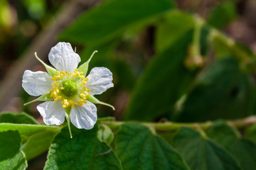
<path id="1" fill-rule="evenodd" d="M 150 121 L 172 111 L 196 73 L 184 66 L 192 34 L 193 30 L 184 33 L 167 50 L 151 60 L 134 88 L 124 115 L 126 120 Z"/>

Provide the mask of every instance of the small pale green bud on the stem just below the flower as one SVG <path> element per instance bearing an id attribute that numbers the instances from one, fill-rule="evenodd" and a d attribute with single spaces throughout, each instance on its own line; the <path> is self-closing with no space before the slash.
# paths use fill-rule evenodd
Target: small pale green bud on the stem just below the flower
<path id="1" fill-rule="evenodd" d="M 114 133 L 107 125 L 101 124 L 97 131 L 97 138 L 100 142 L 105 142 L 107 145 L 110 145 L 114 140 Z"/>

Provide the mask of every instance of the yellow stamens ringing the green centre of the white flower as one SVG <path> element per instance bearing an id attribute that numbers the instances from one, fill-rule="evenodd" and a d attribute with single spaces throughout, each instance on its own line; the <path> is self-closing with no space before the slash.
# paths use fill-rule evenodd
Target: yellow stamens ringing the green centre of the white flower
<path id="1" fill-rule="evenodd" d="M 71 73 L 56 71 L 56 74 L 51 78 L 53 89 L 50 89 L 50 97 L 54 99 L 54 102 L 61 101 L 64 109 L 87 103 L 86 98 L 90 96 L 88 94 L 90 90 L 86 87 L 88 79 L 82 75 L 82 72 L 75 69 L 75 72 Z"/>

